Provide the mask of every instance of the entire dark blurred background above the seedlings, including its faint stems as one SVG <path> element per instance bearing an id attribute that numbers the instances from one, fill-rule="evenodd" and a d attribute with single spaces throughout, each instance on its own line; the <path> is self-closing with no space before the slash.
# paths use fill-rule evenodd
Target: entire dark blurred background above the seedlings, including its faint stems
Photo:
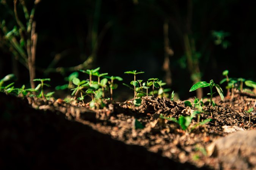
<path id="1" fill-rule="evenodd" d="M 256 80 L 255 1 L 0 2 L 0 77 L 14 73 L 16 86 L 30 86 L 33 59 L 35 78 L 51 78 L 53 90 L 73 71 L 99 66 L 124 83 L 133 80 L 124 71 L 144 71 L 137 79 L 159 78 L 182 100 L 200 95 L 188 92 L 195 82 L 220 82 L 224 70 Z M 118 83 L 115 98 L 132 98 Z"/>

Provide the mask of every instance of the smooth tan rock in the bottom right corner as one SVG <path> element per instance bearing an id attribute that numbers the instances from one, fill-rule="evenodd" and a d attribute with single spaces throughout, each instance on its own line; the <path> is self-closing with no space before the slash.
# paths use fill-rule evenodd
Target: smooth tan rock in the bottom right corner
<path id="1" fill-rule="evenodd" d="M 237 131 L 217 139 L 207 147 L 223 169 L 256 170 L 256 130 Z"/>

